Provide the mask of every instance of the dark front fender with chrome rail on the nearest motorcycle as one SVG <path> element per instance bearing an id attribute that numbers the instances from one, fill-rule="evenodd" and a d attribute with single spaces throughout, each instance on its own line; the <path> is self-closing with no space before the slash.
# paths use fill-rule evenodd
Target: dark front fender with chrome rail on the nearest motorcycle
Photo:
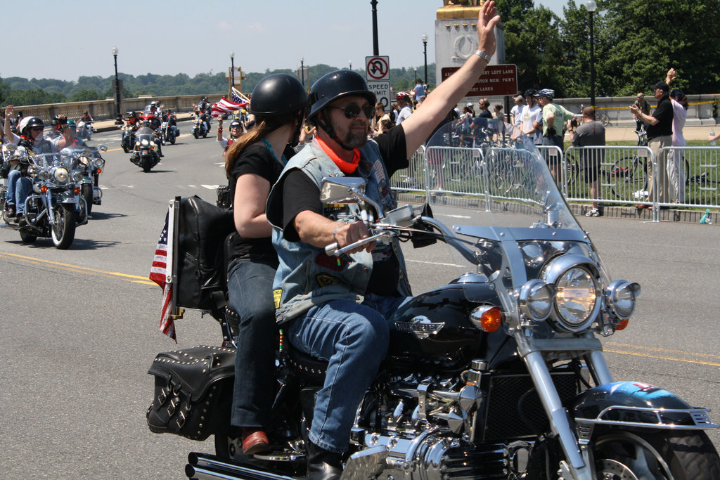
<path id="1" fill-rule="evenodd" d="M 593 425 L 698 430 L 715 428 L 710 409 L 692 407 L 670 391 L 634 381 L 595 386 L 579 394 L 570 409 L 579 428 Z"/>

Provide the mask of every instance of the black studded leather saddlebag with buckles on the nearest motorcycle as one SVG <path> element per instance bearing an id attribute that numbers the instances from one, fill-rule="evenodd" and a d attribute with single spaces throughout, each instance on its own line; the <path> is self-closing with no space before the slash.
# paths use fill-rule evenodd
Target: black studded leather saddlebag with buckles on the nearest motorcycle
<path id="1" fill-rule="evenodd" d="M 230 427 L 235 349 L 194 347 L 158 353 L 148 370 L 155 399 L 148 408 L 154 433 L 205 440 Z"/>

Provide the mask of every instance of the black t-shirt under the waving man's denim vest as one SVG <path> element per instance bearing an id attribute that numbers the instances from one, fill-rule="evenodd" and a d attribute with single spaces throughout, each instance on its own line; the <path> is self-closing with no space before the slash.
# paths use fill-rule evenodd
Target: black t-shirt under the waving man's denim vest
<path id="1" fill-rule="evenodd" d="M 408 166 L 408 152 L 405 145 L 405 130 L 402 124 L 387 130 L 374 138 L 380 149 L 380 155 L 392 174 Z M 348 175 L 354 176 L 354 175 Z M 302 171 L 294 169 L 285 176 L 283 188 L 283 235 L 286 240 L 297 241 L 300 237 L 294 227 L 294 219 L 300 212 L 323 214 L 323 203 L 320 201 L 320 189 L 312 179 Z M 397 284 L 400 281 L 400 261 L 388 245 L 379 245 L 373 250 L 373 267 L 366 293 L 381 295 L 397 295 Z"/>

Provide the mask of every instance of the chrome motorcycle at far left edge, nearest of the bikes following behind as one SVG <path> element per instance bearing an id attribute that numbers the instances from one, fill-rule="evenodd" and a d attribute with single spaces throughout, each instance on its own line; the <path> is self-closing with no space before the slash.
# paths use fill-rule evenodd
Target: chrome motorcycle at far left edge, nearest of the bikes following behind
<path id="1" fill-rule="evenodd" d="M 16 158 L 30 163 L 32 192 L 25 199 L 22 222 L 4 227 L 19 230 L 24 243 L 35 243 L 37 237 L 51 237 L 56 248 L 70 248 L 76 227 L 87 223 L 80 185 L 85 175 L 80 157 L 85 148 L 68 147 L 58 153 L 40 155 L 31 155 L 14 145 L 6 148 Z"/>

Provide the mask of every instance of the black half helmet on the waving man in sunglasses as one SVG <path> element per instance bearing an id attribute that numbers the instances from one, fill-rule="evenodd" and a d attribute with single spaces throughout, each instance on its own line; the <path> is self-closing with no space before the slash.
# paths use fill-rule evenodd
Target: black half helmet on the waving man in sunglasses
<path id="1" fill-rule="evenodd" d="M 364 96 L 372 106 L 377 101 L 375 94 L 368 89 L 365 79 L 357 72 L 336 70 L 320 77 L 310 89 L 310 113 L 307 114 L 307 119 L 312 122 L 318 112 L 331 102 L 353 95 Z"/>

